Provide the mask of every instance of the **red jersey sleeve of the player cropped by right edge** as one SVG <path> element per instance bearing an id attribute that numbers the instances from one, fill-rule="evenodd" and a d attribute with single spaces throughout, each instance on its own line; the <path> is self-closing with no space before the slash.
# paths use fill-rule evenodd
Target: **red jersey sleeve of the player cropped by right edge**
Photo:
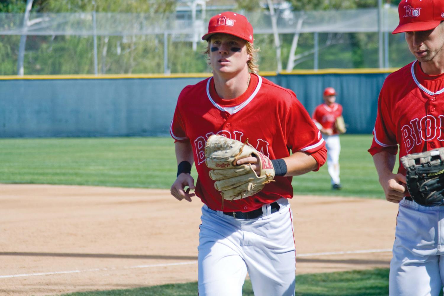
<path id="1" fill-rule="evenodd" d="M 383 85 L 378 98 L 377 116 L 375 128 L 373 129 L 373 142 L 368 150 L 372 156 L 382 151 L 387 151 L 390 154 L 396 154 L 398 151 L 395 133 L 396 125 L 392 121 L 393 114 L 389 106 L 389 98 L 390 96 L 387 94 Z"/>

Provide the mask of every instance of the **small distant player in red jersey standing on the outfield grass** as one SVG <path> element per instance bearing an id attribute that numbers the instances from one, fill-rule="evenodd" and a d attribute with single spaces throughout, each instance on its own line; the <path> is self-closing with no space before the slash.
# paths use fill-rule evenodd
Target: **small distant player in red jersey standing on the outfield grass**
<path id="1" fill-rule="evenodd" d="M 327 87 L 323 94 L 324 103 L 318 105 L 313 112 L 313 121 L 321 130 L 322 138 L 327 148 L 327 166 L 331 177 L 332 189 L 341 189 L 339 178 L 339 130 L 335 126 L 336 119 L 342 116 L 342 106 L 336 103 L 336 91 L 333 87 Z"/>

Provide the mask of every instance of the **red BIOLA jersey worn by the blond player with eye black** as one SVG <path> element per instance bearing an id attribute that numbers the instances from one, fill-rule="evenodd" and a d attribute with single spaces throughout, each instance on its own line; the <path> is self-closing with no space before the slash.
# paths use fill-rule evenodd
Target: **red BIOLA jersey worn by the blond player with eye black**
<path id="1" fill-rule="evenodd" d="M 296 95 L 261 76 L 250 75 L 248 89 L 235 99 L 221 99 L 212 77 L 185 87 L 178 98 L 170 133 L 175 141 L 191 143 L 198 172 L 194 193 L 210 209 L 222 210 L 222 196 L 205 164 L 205 142 L 212 134 L 241 142 L 248 138 L 270 159 L 287 157 L 292 150 L 312 154 L 318 166 L 325 163 L 325 142 Z M 248 212 L 281 197 L 293 197 L 291 177 L 276 176 L 274 180 L 254 196 L 225 201 L 223 210 Z"/>

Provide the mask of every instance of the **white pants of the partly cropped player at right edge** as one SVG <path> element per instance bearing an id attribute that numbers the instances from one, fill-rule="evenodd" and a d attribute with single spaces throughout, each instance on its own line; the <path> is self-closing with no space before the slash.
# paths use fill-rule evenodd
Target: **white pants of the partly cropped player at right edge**
<path id="1" fill-rule="evenodd" d="M 393 257 L 390 262 L 390 296 L 438 296 L 444 263 L 444 207 L 424 207 L 403 200 L 399 205 Z"/>

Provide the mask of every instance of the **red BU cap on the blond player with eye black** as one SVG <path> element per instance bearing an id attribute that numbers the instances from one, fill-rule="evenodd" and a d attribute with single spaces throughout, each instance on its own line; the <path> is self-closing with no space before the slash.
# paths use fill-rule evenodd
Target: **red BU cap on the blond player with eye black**
<path id="1" fill-rule="evenodd" d="M 222 12 L 213 16 L 208 23 L 208 33 L 202 36 L 202 40 L 208 40 L 216 33 L 231 34 L 253 43 L 253 26 L 245 16 L 234 12 Z"/>

